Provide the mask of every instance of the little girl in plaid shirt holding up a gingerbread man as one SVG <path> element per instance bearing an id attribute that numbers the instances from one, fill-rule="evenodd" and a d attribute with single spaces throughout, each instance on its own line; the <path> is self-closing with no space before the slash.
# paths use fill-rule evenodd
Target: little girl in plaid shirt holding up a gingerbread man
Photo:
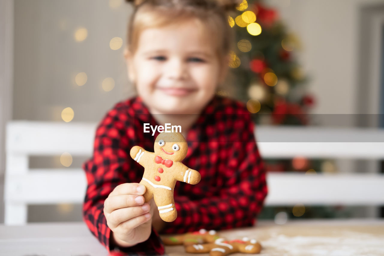
<path id="1" fill-rule="evenodd" d="M 137 97 L 117 103 L 99 123 L 88 180 L 84 221 L 108 250 L 164 254 L 158 236 L 252 226 L 267 194 L 265 170 L 247 108 L 215 96 L 226 78 L 233 31 L 227 11 L 237 0 L 141 0 L 127 32 L 129 79 Z M 166 223 L 144 203 L 144 168 L 129 151 L 153 151 L 153 127 L 180 125 L 188 142 L 183 163 L 198 170 L 197 185 L 174 188 L 177 219 Z"/>

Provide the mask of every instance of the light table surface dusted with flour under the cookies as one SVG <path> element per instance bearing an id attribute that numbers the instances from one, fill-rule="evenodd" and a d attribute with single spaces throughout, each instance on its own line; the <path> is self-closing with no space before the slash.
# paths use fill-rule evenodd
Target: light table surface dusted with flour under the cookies
<path id="1" fill-rule="evenodd" d="M 252 228 L 222 231 L 227 239 L 243 236 L 262 244 L 258 255 L 384 255 L 384 220 L 300 220 L 277 225 L 259 221 Z M 185 255 L 182 246 L 168 246 L 169 256 Z M 0 255 L 104 256 L 106 249 L 84 223 L 31 223 L 0 225 Z M 188 254 L 201 255 L 208 254 Z M 240 256 L 245 254 L 232 254 Z"/>

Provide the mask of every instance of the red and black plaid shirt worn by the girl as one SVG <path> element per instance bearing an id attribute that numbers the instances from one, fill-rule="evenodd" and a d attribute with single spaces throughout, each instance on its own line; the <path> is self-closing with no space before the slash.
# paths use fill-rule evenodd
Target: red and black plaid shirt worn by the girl
<path id="1" fill-rule="evenodd" d="M 88 188 L 83 205 L 84 221 L 99 241 L 111 250 L 103 213 L 104 200 L 122 183 L 139 183 L 144 168 L 129 151 L 139 145 L 153 151 L 159 133 L 143 133 L 143 123 L 158 125 L 141 98 L 117 103 L 99 123 L 93 156 L 83 164 Z M 164 125 L 164 124 L 162 124 Z M 184 165 L 199 171 L 197 185 L 177 182 L 174 189 L 177 219 L 164 233 L 252 226 L 267 194 L 265 168 L 247 108 L 237 101 L 215 96 L 188 131 Z M 150 238 L 131 248 L 137 254 L 164 254 L 152 228 Z"/>

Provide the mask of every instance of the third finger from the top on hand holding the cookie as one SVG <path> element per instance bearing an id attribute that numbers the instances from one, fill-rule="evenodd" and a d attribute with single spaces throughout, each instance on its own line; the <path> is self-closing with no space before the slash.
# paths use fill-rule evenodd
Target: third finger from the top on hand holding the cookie
<path id="1" fill-rule="evenodd" d="M 113 211 L 111 214 L 109 214 L 108 226 L 109 228 L 114 229 L 117 226 L 119 226 L 121 223 L 143 216 L 143 214 L 146 214 L 149 212 L 149 209 L 150 209 L 150 206 L 147 203 L 143 204 L 142 206 L 134 206 L 134 207 L 117 209 L 116 211 Z M 136 222 L 137 220 L 132 221 L 131 223 L 136 223 Z"/>

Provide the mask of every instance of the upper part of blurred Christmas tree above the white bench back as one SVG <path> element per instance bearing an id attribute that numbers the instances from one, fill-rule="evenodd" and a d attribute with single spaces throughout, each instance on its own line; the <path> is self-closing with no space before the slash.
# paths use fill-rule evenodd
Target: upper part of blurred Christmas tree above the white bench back
<path id="1" fill-rule="evenodd" d="M 236 17 L 228 17 L 237 40 L 230 62 L 237 88 L 230 93 L 257 113 L 258 124 L 308 124 L 314 99 L 306 94 L 308 79 L 295 58 L 301 48 L 298 38 L 264 1 L 243 0 L 237 10 Z"/>

